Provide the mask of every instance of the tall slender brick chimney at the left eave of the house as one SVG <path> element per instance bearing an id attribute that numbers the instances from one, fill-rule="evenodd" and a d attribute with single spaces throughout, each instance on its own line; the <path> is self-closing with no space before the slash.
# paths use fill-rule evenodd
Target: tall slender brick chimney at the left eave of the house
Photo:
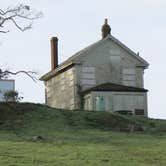
<path id="1" fill-rule="evenodd" d="M 58 38 L 51 38 L 51 70 L 58 67 Z"/>

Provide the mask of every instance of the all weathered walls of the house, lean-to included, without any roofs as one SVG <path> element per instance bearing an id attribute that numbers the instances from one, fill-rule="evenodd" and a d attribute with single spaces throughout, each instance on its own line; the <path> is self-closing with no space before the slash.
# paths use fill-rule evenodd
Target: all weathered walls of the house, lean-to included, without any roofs
<path id="1" fill-rule="evenodd" d="M 97 110 L 95 102 L 98 104 L 101 100 L 101 109 L 106 108 L 107 111 L 127 109 L 134 112 L 135 109 L 144 109 L 147 115 L 146 93 L 91 92 L 85 96 L 81 94 L 83 90 L 109 82 L 143 88 L 146 66 L 144 61 L 136 58 L 112 39 L 108 39 L 80 52 L 72 63 L 74 67 L 45 82 L 46 103 L 49 106 Z M 105 97 L 104 100 L 102 95 Z"/>

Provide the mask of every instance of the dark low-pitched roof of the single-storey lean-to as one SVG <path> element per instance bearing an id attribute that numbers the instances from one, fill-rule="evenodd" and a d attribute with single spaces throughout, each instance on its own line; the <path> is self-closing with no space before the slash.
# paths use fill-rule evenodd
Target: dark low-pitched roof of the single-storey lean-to
<path id="1" fill-rule="evenodd" d="M 115 92 L 148 92 L 147 89 L 125 86 L 120 84 L 105 83 L 82 91 L 83 94 L 91 91 L 115 91 Z"/>

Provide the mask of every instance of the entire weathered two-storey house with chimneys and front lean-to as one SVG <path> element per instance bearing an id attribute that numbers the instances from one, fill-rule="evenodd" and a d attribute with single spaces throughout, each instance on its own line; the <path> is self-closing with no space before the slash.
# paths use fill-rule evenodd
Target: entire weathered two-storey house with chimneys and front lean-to
<path id="1" fill-rule="evenodd" d="M 41 77 L 46 104 L 61 109 L 130 111 L 147 116 L 144 70 L 148 63 L 111 35 L 58 64 L 58 39 L 51 39 L 51 71 Z"/>

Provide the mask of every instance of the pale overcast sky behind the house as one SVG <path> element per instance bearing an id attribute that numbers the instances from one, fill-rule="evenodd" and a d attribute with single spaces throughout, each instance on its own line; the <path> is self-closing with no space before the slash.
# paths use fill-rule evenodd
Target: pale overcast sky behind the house
<path id="1" fill-rule="evenodd" d="M 10 33 L 0 34 L 0 67 L 35 70 L 41 76 L 50 70 L 52 36 L 59 38 L 60 63 L 101 39 L 101 25 L 108 18 L 112 35 L 150 63 L 144 75 L 149 116 L 166 119 L 165 0 L 1 0 L 0 7 L 20 3 L 44 17 L 24 33 L 13 26 Z M 24 75 L 12 78 L 24 101 L 44 103 L 42 82 Z"/>

